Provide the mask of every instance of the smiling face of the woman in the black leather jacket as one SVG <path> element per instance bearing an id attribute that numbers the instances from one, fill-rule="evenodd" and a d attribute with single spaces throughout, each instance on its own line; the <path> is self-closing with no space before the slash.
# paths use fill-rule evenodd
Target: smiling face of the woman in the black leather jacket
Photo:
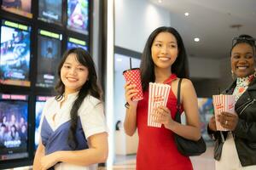
<path id="1" fill-rule="evenodd" d="M 231 52 L 231 68 L 236 77 L 247 77 L 254 72 L 253 48 L 247 43 L 237 44 Z"/>

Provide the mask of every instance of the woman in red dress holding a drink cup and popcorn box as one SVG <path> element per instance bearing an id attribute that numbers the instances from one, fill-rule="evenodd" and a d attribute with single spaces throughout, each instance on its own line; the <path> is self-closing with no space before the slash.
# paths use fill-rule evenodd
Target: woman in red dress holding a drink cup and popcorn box
<path id="1" fill-rule="evenodd" d="M 201 138 L 197 97 L 189 76 L 188 62 L 182 38 L 172 27 L 159 27 L 148 37 L 141 63 L 143 100 L 132 101 L 137 95 L 135 84 L 125 84 L 127 109 L 125 133 L 133 135 L 138 130 L 137 170 L 191 170 L 188 156 L 181 155 L 174 142 L 173 133 L 183 138 Z M 177 108 L 177 82 L 181 84 L 181 103 L 186 116 L 186 125 L 173 121 Z M 155 108 L 155 122 L 161 127 L 148 127 L 148 84 L 167 83 L 172 89 L 167 105 Z"/>

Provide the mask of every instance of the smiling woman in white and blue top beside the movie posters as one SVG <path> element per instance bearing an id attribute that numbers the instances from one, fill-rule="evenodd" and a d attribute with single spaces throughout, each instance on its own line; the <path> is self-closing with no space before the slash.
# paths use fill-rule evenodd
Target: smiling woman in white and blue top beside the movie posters
<path id="1" fill-rule="evenodd" d="M 90 54 L 68 50 L 58 76 L 59 95 L 44 106 L 33 169 L 96 169 L 108 157 L 108 133 Z"/>

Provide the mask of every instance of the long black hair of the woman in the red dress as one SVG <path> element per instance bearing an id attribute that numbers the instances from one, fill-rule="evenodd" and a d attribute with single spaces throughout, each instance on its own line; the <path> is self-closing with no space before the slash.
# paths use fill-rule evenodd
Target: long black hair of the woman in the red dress
<path id="1" fill-rule="evenodd" d="M 148 82 L 155 81 L 154 61 L 152 59 L 151 47 L 154 42 L 154 38 L 160 32 L 169 32 L 177 40 L 178 54 L 177 54 L 177 59 L 175 60 L 175 62 L 172 65 L 172 73 L 175 73 L 177 75 L 177 77 L 189 78 L 188 58 L 187 58 L 187 54 L 186 54 L 186 50 L 185 50 L 185 47 L 183 44 L 182 37 L 179 35 L 179 33 L 174 28 L 167 27 L 167 26 L 161 26 L 161 27 L 155 29 L 150 34 L 150 36 L 148 37 L 148 40 L 146 42 L 145 48 L 143 50 L 142 62 L 140 65 L 143 91 L 145 91 L 148 88 Z"/>

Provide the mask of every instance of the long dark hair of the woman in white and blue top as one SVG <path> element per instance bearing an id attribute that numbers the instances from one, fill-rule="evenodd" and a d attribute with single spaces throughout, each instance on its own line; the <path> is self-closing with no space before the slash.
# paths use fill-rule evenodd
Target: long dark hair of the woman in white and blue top
<path id="1" fill-rule="evenodd" d="M 83 103 L 84 98 L 90 94 L 91 96 L 95 97 L 96 99 L 101 99 L 102 90 L 97 84 L 97 76 L 96 76 L 96 69 L 93 59 L 91 58 L 90 54 L 85 51 L 83 48 L 71 48 L 67 50 L 61 59 L 61 63 L 58 66 L 57 74 L 59 76 L 59 80 L 56 83 L 55 90 L 57 91 L 58 95 L 55 97 L 56 100 L 61 100 L 64 96 L 65 92 L 65 85 L 61 81 L 61 68 L 66 61 L 69 54 L 76 54 L 76 58 L 81 65 L 87 67 L 89 74 L 87 77 L 87 81 L 84 83 L 83 87 L 79 90 L 78 98 L 75 99 L 73 102 L 72 109 L 70 111 L 70 118 L 71 118 L 71 126 L 68 132 L 68 144 L 75 149 L 78 145 L 78 140 L 76 139 L 76 129 L 78 123 L 78 111 L 80 105 Z"/>

